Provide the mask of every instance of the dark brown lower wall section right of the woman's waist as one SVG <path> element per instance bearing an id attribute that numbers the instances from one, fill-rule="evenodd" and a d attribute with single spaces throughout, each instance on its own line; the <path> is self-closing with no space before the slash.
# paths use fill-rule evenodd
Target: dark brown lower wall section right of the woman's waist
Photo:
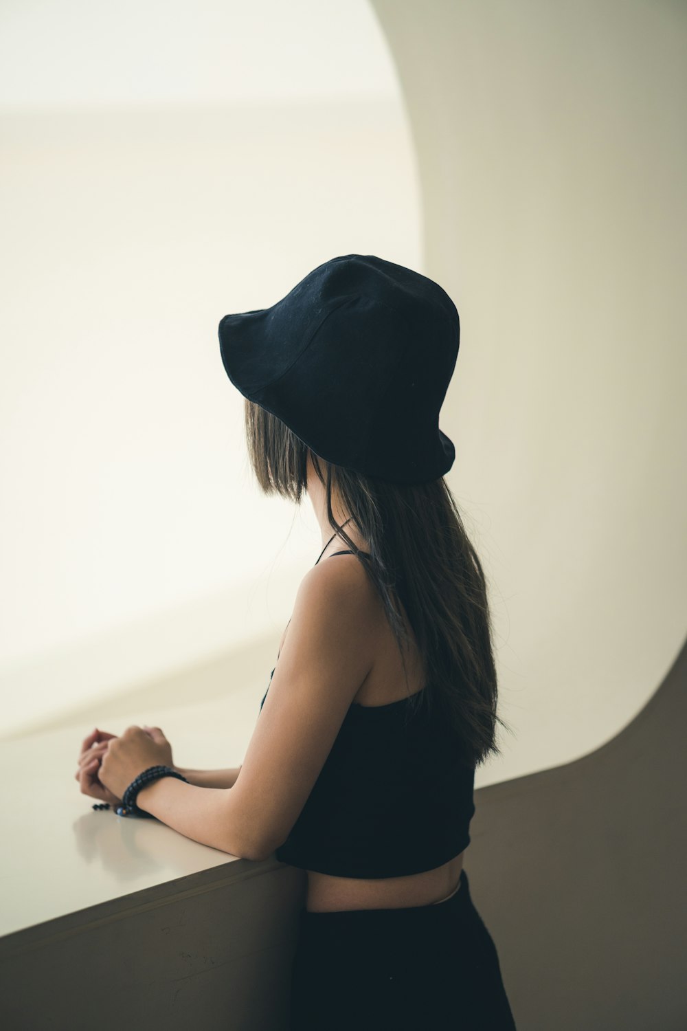
<path id="1" fill-rule="evenodd" d="M 466 857 L 520 1031 L 687 1027 L 687 644 L 615 738 L 475 793 Z"/>

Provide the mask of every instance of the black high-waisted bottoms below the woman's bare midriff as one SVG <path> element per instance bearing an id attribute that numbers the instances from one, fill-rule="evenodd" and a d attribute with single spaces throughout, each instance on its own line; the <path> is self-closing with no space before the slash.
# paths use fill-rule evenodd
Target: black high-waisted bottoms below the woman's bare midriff
<path id="1" fill-rule="evenodd" d="M 290 1031 L 515 1031 L 468 874 L 445 902 L 301 912 Z"/>

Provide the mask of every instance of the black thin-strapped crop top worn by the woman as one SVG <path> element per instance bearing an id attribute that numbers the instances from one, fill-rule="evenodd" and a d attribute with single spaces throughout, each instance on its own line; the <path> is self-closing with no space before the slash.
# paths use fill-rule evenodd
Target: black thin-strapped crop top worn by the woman
<path id="1" fill-rule="evenodd" d="M 467 849 L 475 769 L 461 760 L 446 721 L 431 721 L 426 706 L 406 725 L 406 702 L 351 703 L 276 850 L 280 862 L 338 877 L 401 877 L 443 866 Z"/>

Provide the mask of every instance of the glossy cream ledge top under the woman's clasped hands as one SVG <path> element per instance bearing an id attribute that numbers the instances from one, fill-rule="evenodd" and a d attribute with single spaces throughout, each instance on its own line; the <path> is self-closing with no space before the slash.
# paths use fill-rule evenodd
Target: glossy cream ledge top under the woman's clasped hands
<path id="1" fill-rule="evenodd" d="M 270 659 L 266 655 L 266 667 Z M 101 729 L 121 734 L 131 724 L 158 725 L 172 743 L 176 764 L 239 766 L 268 679 L 269 668 L 264 684 L 230 687 L 224 699 L 168 710 L 156 704 L 149 711 L 141 699 L 124 718 L 103 721 Z M 159 820 L 94 810 L 97 800 L 81 794 L 74 778 L 81 740 L 92 730 L 93 724 L 81 723 L 0 741 L 5 785 L 0 936 L 69 914 L 88 921 L 84 910 L 141 892 L 202 891 L 204 885 L 279 865 L 275 859 L 259 864 L 200 844 Z M 212 870 L 216 873 L 198 877 Z M 160 894 L 153 891 L 150 900 Z"/>

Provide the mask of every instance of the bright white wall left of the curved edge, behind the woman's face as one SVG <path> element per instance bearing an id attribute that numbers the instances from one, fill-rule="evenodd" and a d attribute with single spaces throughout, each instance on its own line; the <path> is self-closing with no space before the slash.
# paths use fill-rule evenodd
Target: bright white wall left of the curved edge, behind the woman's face
<path id="1" fill-rule="evenodd" d="M 286 623 L 319 529 L 253 485 L 217 324 L 338 254 L 417 266 L 420 210 L 363 2 L 9 4 L 0 36 L 8 733 Z"/>

